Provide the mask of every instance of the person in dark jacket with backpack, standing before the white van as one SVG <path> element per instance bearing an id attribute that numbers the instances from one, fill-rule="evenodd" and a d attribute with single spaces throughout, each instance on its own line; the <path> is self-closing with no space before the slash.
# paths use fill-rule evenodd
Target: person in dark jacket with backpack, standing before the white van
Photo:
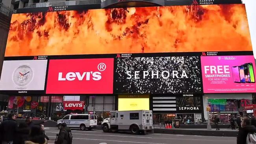
<path id="1" fill-rule="evenodd" d="M 59 130 L 59 135 L 55 144 L 72 144 L 73 136 L 71 129 L 67 127 L 67 124 L 61 124 L 61 129 Z"/>

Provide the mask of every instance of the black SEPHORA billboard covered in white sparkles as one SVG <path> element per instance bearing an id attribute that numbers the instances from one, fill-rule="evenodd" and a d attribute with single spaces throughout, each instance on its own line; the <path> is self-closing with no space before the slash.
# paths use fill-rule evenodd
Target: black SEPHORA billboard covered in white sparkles
<path id="1" fill-rule="evenodd" d="M 116 93 L 202 93 L 197 56 L 126 57 L 116 65 Z"/>

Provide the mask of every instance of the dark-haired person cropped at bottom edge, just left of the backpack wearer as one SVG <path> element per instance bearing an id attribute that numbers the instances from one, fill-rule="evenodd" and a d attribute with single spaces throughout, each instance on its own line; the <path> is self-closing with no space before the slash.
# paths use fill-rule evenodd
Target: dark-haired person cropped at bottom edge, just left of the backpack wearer
<path id="1" fill-rule="evenodd" d="M 46 138 L 42 134 L 42 129 L 39 126 L 33 126 L 30 131 L 29 140 L 25 144 L 47 144 Z"/>

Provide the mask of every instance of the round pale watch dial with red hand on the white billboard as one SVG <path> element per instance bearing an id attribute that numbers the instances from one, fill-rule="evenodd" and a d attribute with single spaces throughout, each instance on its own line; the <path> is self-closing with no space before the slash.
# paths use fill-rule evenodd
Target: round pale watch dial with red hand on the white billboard
<path id="1" fill-rule="evenodd" d="M 18 67 L 13 73 L 13 82 L 18 86 L 25 86 L 32 81 L 33 71 L 29 66 Z"/>

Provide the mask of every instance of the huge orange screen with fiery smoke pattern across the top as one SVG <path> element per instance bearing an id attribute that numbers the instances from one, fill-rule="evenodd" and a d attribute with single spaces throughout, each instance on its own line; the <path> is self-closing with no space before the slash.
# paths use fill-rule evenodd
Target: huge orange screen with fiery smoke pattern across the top
<path id="1" fill-rule="evenodd" d="M 206 51 L 252 51 L 245 5 L 13 14 L 5 56 Z"/>

